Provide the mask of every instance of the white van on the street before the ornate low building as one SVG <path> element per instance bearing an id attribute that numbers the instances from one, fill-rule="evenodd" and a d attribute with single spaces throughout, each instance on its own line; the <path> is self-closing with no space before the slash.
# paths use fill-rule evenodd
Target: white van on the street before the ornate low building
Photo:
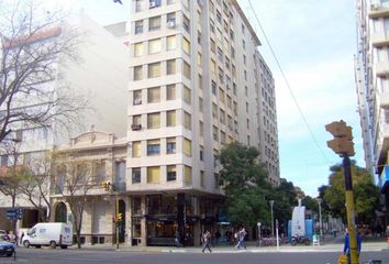
<path id="1" fill-rule="evenodd" d="M 67 249 L 73 244 L 73 230 L 69 224 L 63 222 L 36 223 L 23 237 L 22 243 L 25 248 L 49 245 L 55 249 L 59 245 L 62 249 Z"/>

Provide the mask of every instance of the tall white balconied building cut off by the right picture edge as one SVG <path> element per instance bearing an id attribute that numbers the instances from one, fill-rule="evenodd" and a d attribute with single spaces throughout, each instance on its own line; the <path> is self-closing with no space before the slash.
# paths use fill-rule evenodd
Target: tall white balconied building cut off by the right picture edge
<path id="1" fill-rule="evenodd" d="M 389 212 L 389 1 L 357 0 L 358 54 L 355 80 L 367 168 L 381 189 L 377 217 Z"/>

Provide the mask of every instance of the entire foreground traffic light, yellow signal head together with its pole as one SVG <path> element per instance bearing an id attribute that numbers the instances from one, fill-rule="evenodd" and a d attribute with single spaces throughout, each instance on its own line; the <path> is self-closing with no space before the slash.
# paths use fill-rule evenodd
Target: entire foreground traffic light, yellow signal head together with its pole
<path id="1" fill-rule="evenodd" d="M 355 229 L 355 208 L 354 208 L 354 193 L 353 193 L 353 179 L 352 179 L 352 166 L 349 156 L 354 156 L 354 143 L 352 128 L 347 127 L 343 120 L 335 121 L 325 125 L 325 130 L 329 131 L 334 139 L 327 141 L 327 146 L 336 154 L 343 157 L 343 172 L 345 180 L 346 193 L 346 211 L 347 211 L 347 226 L 348 226 L 348 239 L 349 239 L 349 254 L 351 263 L 358 264 L 359 256 L 357 254 L 357 235 Z"/>

